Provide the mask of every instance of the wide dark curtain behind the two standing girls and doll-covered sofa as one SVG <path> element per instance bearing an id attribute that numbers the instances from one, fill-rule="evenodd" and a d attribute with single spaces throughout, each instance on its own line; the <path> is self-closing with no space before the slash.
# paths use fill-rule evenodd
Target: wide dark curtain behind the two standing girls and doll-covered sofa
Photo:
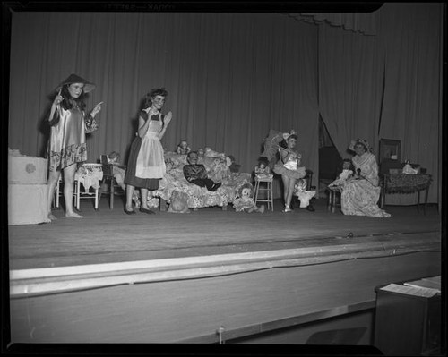
<path id="1" fill-rule="evenodd" d="M 125 163 L 142 98 L 168 89 L 162 139 L 233 155 L 250 172 L 270 129 L 296 129 L 318 174 L 317 28 L 276 13 L 13 13 L 9 146 L 44 156 L 47 111 L 72 72 L 104 101 L 90 162 L 116 150 Z"/>

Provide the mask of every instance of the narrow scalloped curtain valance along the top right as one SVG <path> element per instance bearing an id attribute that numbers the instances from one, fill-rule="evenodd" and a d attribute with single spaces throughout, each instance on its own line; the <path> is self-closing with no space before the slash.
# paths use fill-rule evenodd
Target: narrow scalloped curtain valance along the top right
<path id="1" fill-rule="evenodd" d="M 377 14 L 373 13 L 289 13 L 300 21 L 311 23 L 326 22 L 363 35 L 376 35 Z"/>

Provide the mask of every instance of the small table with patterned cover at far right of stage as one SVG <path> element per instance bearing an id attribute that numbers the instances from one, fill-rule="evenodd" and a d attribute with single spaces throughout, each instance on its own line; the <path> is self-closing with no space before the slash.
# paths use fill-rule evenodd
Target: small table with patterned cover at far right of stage
<path id="1" fill-rule="evenodd" d="M 430 174 L 383 174 L 381 208 L 385 205 L 386 193 L 409 194 L 417 192 L 417 210 L 419 212 L 420 191 L 425 191 L 423 212 L 426 215 L 427 194 L 432 181 Z"/>

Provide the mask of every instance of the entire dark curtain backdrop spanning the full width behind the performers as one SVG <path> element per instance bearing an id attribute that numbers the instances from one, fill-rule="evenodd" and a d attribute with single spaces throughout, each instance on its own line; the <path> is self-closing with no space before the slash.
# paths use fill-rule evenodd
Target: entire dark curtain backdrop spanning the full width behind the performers
<path id="1" fill-rule="evenodd" d="M 433 174 L 429 201 L 440 202 L 442 10 L 385 3 L 370 30 L 334 14 L 13 13 L 9 146 L 44 155 L 50 97 L 75 72 L 98 86 L 88 106 L 105 102 L 91 162 L 111 150 L 126 158 L 144 94 L 164 86 L 167 149 L 186 139 L 247 172 L 270 129 L 296 129 L 317 178 L 321 115 L 343 157 L 357 137 L 375 154 L 380 138 L 401 140 L 401 158 Z"/>

